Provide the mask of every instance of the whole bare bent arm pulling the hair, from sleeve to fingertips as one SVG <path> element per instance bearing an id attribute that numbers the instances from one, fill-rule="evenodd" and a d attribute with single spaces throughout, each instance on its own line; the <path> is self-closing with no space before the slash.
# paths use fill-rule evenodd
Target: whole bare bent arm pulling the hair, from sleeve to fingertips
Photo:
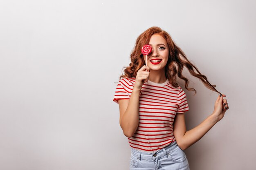
<path id="1" fill-rule="evenodd" d="M 227 99 L 218 96 L 215 102 L 214 111 L 201 124 L 195 128 L 186 131 L 185 115 L 184 113 L 177 113 L 173 125 L 173 135 L 177 145 L 185 150 L 195 142 L 199 141 L 218 121 L 220 121 L 229 109 Z"/>

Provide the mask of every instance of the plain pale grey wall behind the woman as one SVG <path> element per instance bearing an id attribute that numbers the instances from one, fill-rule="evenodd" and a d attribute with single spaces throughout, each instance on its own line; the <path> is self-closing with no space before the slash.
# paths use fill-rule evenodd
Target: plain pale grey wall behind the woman
<path id="1" fill-rule="evenodd" d="M 0 169 L 128 170 L 112 99 L 138 35 L 167 31 L 216 89 L 225 117 L 185 150 L 191 170 L 256 167 L 255 0 L 0 1 Z M 184 69 L 187 130 L 218 97 Z"/>

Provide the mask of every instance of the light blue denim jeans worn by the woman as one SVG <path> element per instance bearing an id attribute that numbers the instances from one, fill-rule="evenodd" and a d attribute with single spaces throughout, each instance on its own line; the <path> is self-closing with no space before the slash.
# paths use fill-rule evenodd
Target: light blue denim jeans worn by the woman
<path id="1" fill-rule="evenodd" d="M 130 170 L 189 170 L 189 161 L 174 141 L 154 153 L 131 148 Z"/>

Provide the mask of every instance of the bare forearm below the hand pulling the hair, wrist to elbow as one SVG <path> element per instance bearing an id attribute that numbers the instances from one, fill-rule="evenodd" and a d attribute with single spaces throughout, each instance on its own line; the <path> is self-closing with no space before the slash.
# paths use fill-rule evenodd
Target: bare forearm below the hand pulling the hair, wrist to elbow
<path id="1" fill-rule="evenodd" d="M 182 150 L 189 148 L 195 142 L 199 141 L 216 123 L 218 118 L 215 115 L 209 115 L 201 124 L 195 128 L 186 131 L 185 135 L 182 137 Z"/>

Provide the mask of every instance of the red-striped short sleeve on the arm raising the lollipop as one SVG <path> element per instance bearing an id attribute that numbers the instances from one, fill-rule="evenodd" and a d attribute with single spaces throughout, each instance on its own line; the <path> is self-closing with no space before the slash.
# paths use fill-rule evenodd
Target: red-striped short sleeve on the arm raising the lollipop
<path id="1" fill-rule="evenodd" d="M 113 101 L 118 104 L 119 99 L 130 99 L 131 95 L 131 84 L 130 80 L 128 78 L 122 78 L 118 84 L 115 91 L 115 96 Z"/>

